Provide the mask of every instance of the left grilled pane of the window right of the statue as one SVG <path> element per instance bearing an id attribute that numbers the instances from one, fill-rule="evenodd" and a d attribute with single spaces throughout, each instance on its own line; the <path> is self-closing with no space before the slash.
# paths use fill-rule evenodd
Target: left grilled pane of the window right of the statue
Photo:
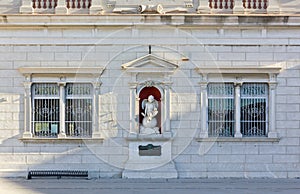
<path id="1" fill-rule="evenodd" d="M 234 85 L 208 84 L 208 135 L 234 135 Z"/>

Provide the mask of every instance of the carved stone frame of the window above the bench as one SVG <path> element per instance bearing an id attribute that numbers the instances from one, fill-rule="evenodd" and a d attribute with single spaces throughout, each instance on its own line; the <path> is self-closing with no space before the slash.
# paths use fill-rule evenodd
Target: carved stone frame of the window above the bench
<path id="1" fill-rule="evenodd" d="M 103 67 L 21 67 L 19 72 L 24 76 L 24 132 L 21 140 L 24 141 L 47 141 L 47 140 L 81 140 L 95 139 L 102 140 L 103 132 L 99 128 L 99 94 L 100 76 Z M 65 134 L 65 127 L 62 121 L 65 120 L 65 113 L 60 111 L 60 133 L 57 138 L 36 137 L 33 134 L 32 122 L 32 85 L 35 83 L 55 83 L 59 86 L 60 110 L 64 110 L 64 87 L 67 83 L 88 83 L 92 86 L 92 135 L 91 137 L 68 137 Z"/>

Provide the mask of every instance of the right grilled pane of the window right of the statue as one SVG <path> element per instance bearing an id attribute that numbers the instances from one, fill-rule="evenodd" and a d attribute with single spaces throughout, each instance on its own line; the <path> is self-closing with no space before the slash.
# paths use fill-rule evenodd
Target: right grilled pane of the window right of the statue
<path id="1" fill-rule="evenodd" d="M 241 88 L 241 133 L 266 136 L 268 85 L 244 83 Z"/>

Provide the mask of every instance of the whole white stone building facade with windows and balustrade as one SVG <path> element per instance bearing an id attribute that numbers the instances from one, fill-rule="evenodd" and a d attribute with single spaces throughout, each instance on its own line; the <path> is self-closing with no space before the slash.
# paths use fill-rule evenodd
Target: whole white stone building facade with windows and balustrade
<path id="1" fill-rule="evenodd" d="M 297 1 L 0 5 L 1 177 L 300 177 Z"/>

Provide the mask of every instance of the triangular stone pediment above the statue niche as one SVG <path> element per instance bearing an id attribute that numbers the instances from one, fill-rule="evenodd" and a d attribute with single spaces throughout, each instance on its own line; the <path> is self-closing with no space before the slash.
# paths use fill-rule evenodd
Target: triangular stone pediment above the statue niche
<path id="1" fill-rule="evenodd" d="M 152 54 L 122 65 L 122 69 L 137 73 L 173 73 L 177 68 L 177 64 Z"/>

